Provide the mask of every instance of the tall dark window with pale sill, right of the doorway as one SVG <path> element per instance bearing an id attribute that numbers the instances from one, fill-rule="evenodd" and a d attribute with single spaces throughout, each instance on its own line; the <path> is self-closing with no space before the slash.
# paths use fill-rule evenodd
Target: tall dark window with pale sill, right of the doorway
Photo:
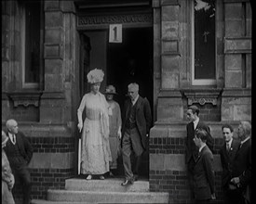
<path id="1" fill-rule="evenodd" d="M 216 84 L 215 1 L 195 0 L 192 15 L 192 84 Z"/>

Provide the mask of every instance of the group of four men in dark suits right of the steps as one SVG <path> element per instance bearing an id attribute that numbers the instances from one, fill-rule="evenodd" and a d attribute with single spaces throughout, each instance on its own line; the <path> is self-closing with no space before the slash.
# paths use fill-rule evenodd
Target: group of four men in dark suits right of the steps
<path id="1" fill-rule="evenodd" d="M 209 126 L 199 120 L 199 109 L 187 109 L 185 161 L 191 196 L 195 203 L 209 203 L 215 199 L 213 170 L 213 139 Z M 249 204 L 251 191 L 251 125 L 241 121 L 237 137 L 230 124 L 222 125 L 224 144 L 220 150 L 224 203 Z"/>

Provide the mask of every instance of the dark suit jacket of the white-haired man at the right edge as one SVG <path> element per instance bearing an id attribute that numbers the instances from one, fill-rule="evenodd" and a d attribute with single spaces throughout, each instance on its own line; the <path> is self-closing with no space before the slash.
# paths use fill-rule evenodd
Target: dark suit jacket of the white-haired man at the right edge
<path id="1" fill-rule="evenodd" d="M 237 150 L 232 177 L 239 177 L 242 188 L 251 183 L 251 139 Z"/>

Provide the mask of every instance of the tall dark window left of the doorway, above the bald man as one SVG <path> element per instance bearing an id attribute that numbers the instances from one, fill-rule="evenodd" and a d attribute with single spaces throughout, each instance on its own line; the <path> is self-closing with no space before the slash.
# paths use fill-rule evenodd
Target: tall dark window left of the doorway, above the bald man
<path id="1" fill-rule="evenodd" d="M 21 5 L 22 87 L 38 88 L 42 70 L 41 1 L 23 1 Z"/>

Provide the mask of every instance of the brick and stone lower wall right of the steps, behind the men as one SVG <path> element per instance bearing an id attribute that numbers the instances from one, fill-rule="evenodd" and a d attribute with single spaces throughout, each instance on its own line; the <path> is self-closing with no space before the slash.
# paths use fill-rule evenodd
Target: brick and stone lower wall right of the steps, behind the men
<path id="1" fill-rule="evenodd" d="M 222 147 L 222 134 L 220 134 L 222 124 L 217 128 L 212 125 L 212 137 L 214 140 L 213 156 L 215 170 L 216 200 L 214 203 L 222 203 L 222 170 L 220 169 L 219 151 Z M 182 129 L 182 126 L 180 127 Z M 168 130 L 163 127 L 162 130 Z M 177 127 L 173 127 L 172 134 L 177 137 L 161 137 L 165 132 L 157 130 L 153 132 L 149 141 L 150 151 L 150 191 L 168 192 L 169 203 L 191 203 L 190 187 L 186 172 L 185 154 L 185 126 L 180 134 Z M 168 131 L 167 131 L 168 132 Z M 160 134 L 161 133 L 161 134 Z M 217 133 L 217 134 L 216 134 Z M 218 135 L 218 136 L 217 136 Z"/>

